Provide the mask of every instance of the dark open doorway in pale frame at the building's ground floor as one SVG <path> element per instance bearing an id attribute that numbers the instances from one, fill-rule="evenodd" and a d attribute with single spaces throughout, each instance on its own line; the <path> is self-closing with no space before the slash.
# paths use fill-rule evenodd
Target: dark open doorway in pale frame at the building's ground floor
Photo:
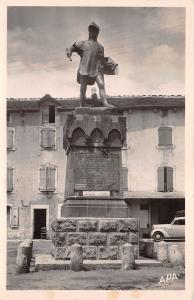
<path id="1" fill-rule="evenodd" d="M 46 209 L 34 209 L 34 239 L 41 238 L 42 227 L 46 227 Z"/>

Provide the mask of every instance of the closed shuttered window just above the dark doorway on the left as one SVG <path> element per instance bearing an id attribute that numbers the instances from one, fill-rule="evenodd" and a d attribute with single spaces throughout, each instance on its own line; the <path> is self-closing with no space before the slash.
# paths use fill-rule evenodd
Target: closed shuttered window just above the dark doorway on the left
<path id="1" fill-rule="evenodd" d="M 40 169 L 40 191 L 55 192 L 56 191 L 56 167 L 47 166 Z"/>

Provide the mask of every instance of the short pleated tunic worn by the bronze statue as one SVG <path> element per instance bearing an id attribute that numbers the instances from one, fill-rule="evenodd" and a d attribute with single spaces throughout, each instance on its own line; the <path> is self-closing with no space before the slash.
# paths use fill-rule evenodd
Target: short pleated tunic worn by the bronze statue
<path id="1" fill-rule="evenodd" d="M 98 72 L 103 72 L 104 47 L 94 40 L 76 42 L 73 46 L 74 51 L 81 57 L 77 73 L 78 83 L 94 84 Z"/>

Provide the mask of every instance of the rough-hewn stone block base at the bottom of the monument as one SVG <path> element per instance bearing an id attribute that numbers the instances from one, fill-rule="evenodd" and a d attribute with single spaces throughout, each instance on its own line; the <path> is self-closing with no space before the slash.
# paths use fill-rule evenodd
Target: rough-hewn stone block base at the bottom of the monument
<path id="1" fill-rule="evenodd" d="M 51 253 L 69 259 L 70 248 L 79 243 L 84 259 L 122 259 L 122 245 L 134 245 L 139 256 L 139 222 L 134 218 L 61 218 L 52 225 Z"/>

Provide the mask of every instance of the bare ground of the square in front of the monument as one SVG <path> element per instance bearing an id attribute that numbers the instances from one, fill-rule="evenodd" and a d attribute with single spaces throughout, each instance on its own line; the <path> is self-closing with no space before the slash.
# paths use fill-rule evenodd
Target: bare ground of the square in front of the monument
<path id="1" fill-rule="evenodd" d="M 132 271 L 39 271 L 33 263 L 28 274 L 16 274 L 16 254 L 19 242 L 7 244 L 8 290 L 182 290 L 184 270 L 170 267 L 141 268 Z M 34 241 L 34 255 L 50 253 L 49 241 Z"/>

